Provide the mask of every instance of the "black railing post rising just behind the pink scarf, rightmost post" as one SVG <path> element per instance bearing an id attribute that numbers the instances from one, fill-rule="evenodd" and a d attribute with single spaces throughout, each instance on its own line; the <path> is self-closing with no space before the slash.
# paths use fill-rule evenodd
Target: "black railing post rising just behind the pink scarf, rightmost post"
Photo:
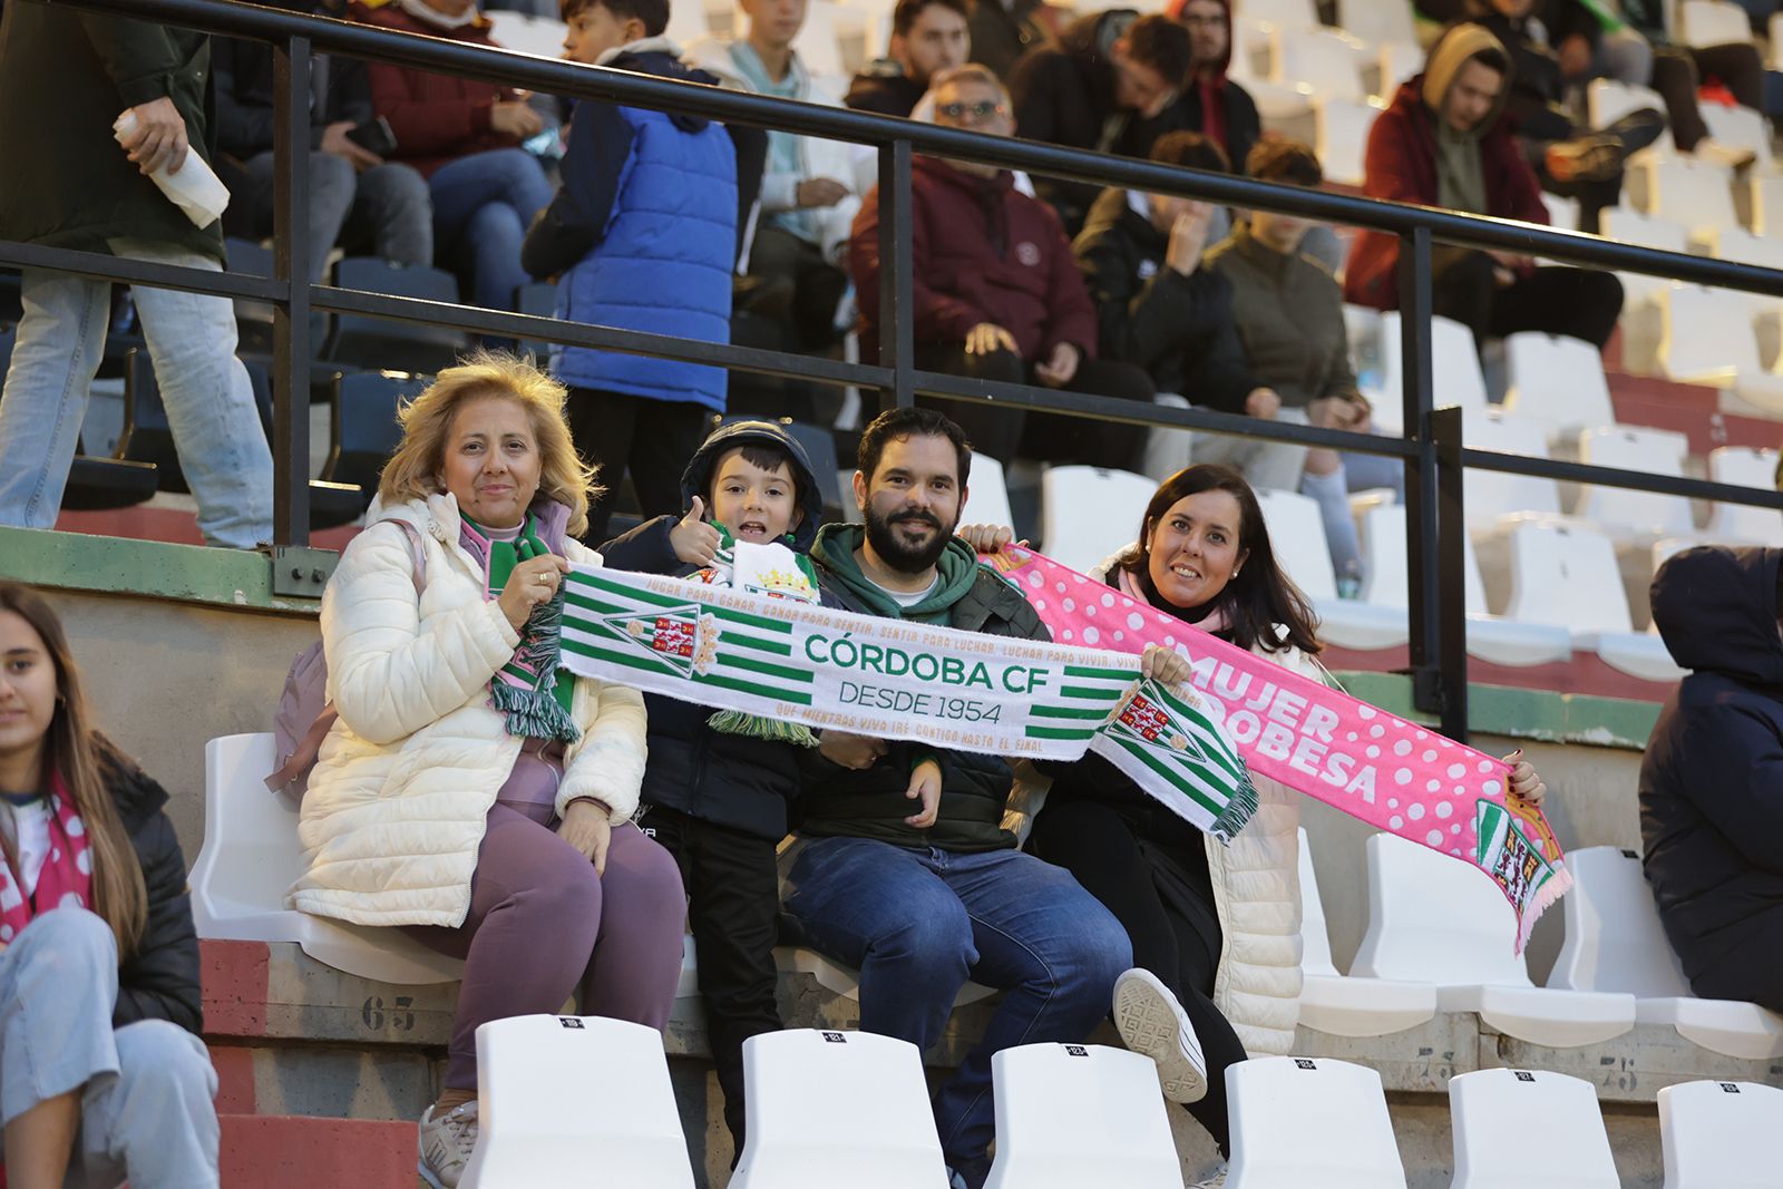
<path id="1" fill-rule="evenodd" d="M 1412 706 L 1442 713 L 1442 583 L 1437 567 L 1437 455 L 1430 440 L 1434 367 L 1430 357 L 1430 232 L 1400 235 L 1400 398 L 1405 437 L 1417 453 L 1405 460 L 1405 556 Z M 1457 588 L 1458 590 L 1458 588 Z"/>

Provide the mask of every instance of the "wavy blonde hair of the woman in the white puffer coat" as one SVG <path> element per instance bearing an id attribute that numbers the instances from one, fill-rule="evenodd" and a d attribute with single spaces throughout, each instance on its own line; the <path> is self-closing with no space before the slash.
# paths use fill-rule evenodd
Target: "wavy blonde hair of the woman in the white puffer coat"
<path id="1" fill-rule="evenodd" d="M 478 351 L 456 367 L 446 367 L 421 396 L 398 410 L 403 442 L 383 463 L 378 497 L 394 504 L 437 494 L 453 417 L 485 396 L 506 398 L 526 410 L 542 462 L 538 494 L 569 508 L 567 528 L 579 537 L 588 528 L 588 501 L 599 499 L 603 488 L 594 481 L 596 469 L 576 455 L 563 419 L 569 392 L 526 360 L 501 351 Z"/>

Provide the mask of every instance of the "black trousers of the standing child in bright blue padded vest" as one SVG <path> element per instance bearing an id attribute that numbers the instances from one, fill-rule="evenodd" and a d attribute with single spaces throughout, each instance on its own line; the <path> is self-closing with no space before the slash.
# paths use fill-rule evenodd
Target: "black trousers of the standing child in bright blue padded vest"
<path id="1" fill-rule="evenodd" d="M 653 401 L 644 396 L 569 390 L 569 431 L 576 453 L 601 469 L 606 492 L 588 504 L 590 545 L 606 540 L 619 501 L 619 481 L 631 474 L 644 517 L 681 515 L 681 472 L 706 440 L 711 410 L 692 401 Z"/>

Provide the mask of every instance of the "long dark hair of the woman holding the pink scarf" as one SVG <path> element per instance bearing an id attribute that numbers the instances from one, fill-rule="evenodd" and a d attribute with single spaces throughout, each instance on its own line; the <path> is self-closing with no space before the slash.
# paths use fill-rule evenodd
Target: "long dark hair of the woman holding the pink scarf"
<path id="1" fill-rule="evenodd" d="M 1139 540 L 1116 562 L 1120 569 L 1134 576 L 1152 606 L 1180 615 L 1184 608 L 1164 601 L 1152 583 L 1152 533 L 1179 499 L 1202 492 L 1227 492 L 1237 501 L 1237 547 L 1246 554 L 1237 576 L 1225 585 L 1225 590 L 1214 597 L 1207 610 L 1225 613 L 1227 635 L 1241 649 L 1261 647 L 1264 652 L 1286 652 L 1289 647 L 1296 647 L 1307 656 L 1316 654 L 1325 645 L 1319 644 L 1319 620 L 1312 613 L 1312 604 L 1277 563 L 1275 549 L 1269 545 L 1269 526 L 1262 522 L 1262 508 L 1257 504 L 1257 492 L 1250 490 L 1245 476 L 1232 467 L 1204 462 L 1184 467 L 1159 483 L 1152 503 L 1145 506 Z"/>

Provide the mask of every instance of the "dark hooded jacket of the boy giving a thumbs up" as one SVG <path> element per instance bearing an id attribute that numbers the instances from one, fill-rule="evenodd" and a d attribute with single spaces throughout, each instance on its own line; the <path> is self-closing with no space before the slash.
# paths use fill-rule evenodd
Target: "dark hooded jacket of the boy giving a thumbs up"
<path id="1" fill-rule="evenodd" d="M 711 471 L 719 456 L 747 442 L 774 444 L 792 455 L 799 508 L 806 513 L 786 544 L 808 553 L 817 537 L 822 488 L 804 447 L 777 424 L 738 421 L 708 437 L 681 476 L 681 501 L 692 506 L 699 496 L 710 504 Z M 695 567 L 676 558 L 669 544 L 674 526 L 674 517 L 645 521 L 601 545 L 601 560 L 615 570 L 690 574 Z M 836 606 L 829 599 L 826 603 Z M 804 749 L 713 731 L 706 726 L 713 713 L 708 706 L 658 693 L 645 693 L 644 704 L 649 709 L 649 763 L 644 768 L 642 804 L 667 806 L 774 841 L 786 834 L 786 811 L 799 795 L 799 752 Z"/>

